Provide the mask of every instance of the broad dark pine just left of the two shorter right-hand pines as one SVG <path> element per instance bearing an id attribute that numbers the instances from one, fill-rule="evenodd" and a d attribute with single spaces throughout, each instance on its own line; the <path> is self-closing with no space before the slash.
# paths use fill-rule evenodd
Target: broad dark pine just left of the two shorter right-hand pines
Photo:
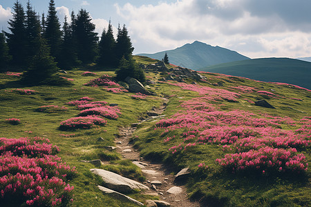
<path id="1" fill-rule="evenodd" d="M 97 32 L 91 17 L 85 9 L 79 10 L 75 20 L 75 35 L 77 38 L 77 57 L 83 63 L 92 63 L 97 56 Z"/>

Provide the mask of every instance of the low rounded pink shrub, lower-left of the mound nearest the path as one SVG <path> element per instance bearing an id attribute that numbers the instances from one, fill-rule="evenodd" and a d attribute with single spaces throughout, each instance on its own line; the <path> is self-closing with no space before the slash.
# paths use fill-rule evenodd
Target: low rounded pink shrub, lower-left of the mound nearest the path
<path id="1" fill-rule="evenodd" d="M 60 130 L 75 130 L 75 129 L 88 129 L 96 126 L 105 126 L 106 120 L 96 117 L 96 116 L 86 116 L 86 117 L 73 117 L 62 121 L 59 129 Z"/>

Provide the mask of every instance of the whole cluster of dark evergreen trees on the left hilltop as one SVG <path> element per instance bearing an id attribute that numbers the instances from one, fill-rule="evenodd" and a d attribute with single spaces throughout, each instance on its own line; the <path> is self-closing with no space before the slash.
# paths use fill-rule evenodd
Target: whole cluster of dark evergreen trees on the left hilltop
<path id="1" fill-rule="evenodd" d="M 117 28 L 117 39 L 109 21 L 99 39 L 95 25 L 85 9 L 77 14 L 71 12 L 70 21 L 64 19 L 61 27 L 55 1 L 50 0 L 48 14 L 35 11 L 28 0 L 26 11 L 17 0 L 13 6 L 12 19 L 8 21 L 10 32 L 0 33 L 0 72 L 10 68 L 26 70 L 23 81 L 45 81 L 59 70 L 70 70 L 88 63 L 97 66 L 120 68 L 117 79 L 142 73 L 132 59 L 134 50 L 126 26 Z M 125 70 L 128 69 L 128 70 Z M 141 75 L 143 76 L 143 75 Z"/>

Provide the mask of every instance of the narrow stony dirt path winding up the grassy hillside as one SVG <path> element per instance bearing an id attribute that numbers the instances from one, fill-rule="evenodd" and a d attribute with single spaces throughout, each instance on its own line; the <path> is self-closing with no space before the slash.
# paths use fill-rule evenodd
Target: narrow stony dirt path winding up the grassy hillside
<path id="1" fill-rule="evenodd" d="M 141 121 L 158 118 L 166 109 L 167 102 L 168 99 L 164 99 L 164 103 L 160 108 L 153 108 L 150 112 L 147 112 L 149 117 Z M 142 168 L 144 177 L 147 178 L 144 184 L 150 188 L 145 193 L 159 196 L 161 201 L 168 202 L 171 206 L 200 206 L 198 203 L 189 201 L 185 186 L 177 186 L 178 188 L 175 188 L 176 190 L 181 190 L 181 193 L 167 193 L 167 190 L 176 186 L 173 182 L 175 177 L 169 173 L 169 170 L 163 164 L 155 164 L 144 160 L 140 157 L 140 153 L 133 148 L 133 144 L 129 143 L 137 124 L 132 124 L 131 127 L 120 128 L 119 137 L 115 139 L 115 142 L 117 144 L 117 152 L 124 159 L 134 161 L 136 165 Z"/>

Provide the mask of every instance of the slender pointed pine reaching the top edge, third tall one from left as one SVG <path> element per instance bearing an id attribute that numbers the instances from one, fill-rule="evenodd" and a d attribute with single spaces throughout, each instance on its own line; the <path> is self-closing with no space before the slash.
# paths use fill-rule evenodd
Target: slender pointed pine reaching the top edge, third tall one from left
<path id="1" fill-rule="evenodd" d="M 50 5 L 48 7 L 48 16 L 46 17 L 46 29 L 44 32 L 44 37 L 48 42 L 50 47 L 50 55 L 59 59 L 60 46 L 62 44 L 62 30 L 59 23 L 59 19 L 56 15 L 56 8 L 54 0 L 50 0 Z"/>

